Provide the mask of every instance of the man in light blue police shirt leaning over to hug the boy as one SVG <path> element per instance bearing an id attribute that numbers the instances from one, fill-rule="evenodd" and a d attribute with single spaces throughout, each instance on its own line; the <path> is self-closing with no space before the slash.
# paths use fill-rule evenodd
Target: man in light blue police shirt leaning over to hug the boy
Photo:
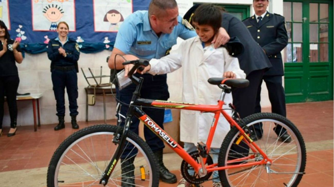
<path id="1" fill-rule="evenodd" d="M 123 66 L 125 61 L 119 55 L 123 55 L 127 60 L 159 59 L 176 44 L 176 39 L 188 39 L 195 37 L 192 26 L 178 15 L 178 7 L 175 0 L 152 0 L 148 11 L 137 11 L 127 17 L 117 33 L 113 52 L 109 58 L 109 67 L 111 69 L 121 70 L 125 68 L 126 75 L 133 65 Z M 215 47 L 225 44 L 229 36 L 222 28 L 214 40 Z M 136 74 L 137 77 L 143 77 L 144 82 L 141 89 L 141 97 L 154 100 L 167 100 L 169 98 L 167 75 Z M 136 85 L 131 84 L 128 87 L 119 90 L 117 97 L 124 103 L 130 103 L 132 94 Z M 163 128 L 164 109 L 144 108 L 144 112 L 149 115 L 160 127 Z M 122 105 L 121 114 L 126 115 L 128 106 Z M 139 120 L 132 119 L 130 130 L 138 134 Z M 121 125 L 124 125 L 124 121 Z M 144 135 L 147 144 L 152 149 L 159 162 L 160 179 L 166 183 L 175 183 L 176 176 L 168 171 L 162 162 L 162 152 L 164 143 L 149 128 L 144 127 Z M 127 146 L 121 156 L 122 163 L 122 186 L 133 186 L 134 157 L 129 158 L 136 152 L 132 151 L 133 147 Z M 125 167 L 129 166 L 129 167 Z"/>

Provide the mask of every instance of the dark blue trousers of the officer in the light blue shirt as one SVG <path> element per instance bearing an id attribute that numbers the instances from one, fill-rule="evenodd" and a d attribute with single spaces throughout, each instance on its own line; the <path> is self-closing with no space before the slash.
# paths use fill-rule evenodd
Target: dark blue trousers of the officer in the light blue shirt
<path id="1" fill-rule="evenodd" d="M 153 100 L 167 100 L 169 98 L 168 86 L 166 83 L 166 75 L 161 76 L 151 76 L 144 75 L 145 79 L 140 92 L 141 98 L 153 99 Z M 122 102 L 129 104 L 132 98 L 133 92 L 136 90 L 136 85 L 131 84 L 122 90 L 117 90 L 117 98 Z M 121 114 L 126 116 L 129 107 L 125 104 L 121 106 Z M 164 121 L 164 109 L 158 108 L 142 108 L 143 111 L 152 118 L 161 128 L 163 127 Z M 122 119 L 121 125 L 123 126 L 125 119 Z M 130 130 L 139 133 L 139 122 L 137 117 L 132 117 L 132 123 L 130 124 Z M 163 141 L 156 136 L 147 126 L 144 126 L 144 136 L 146 143 L 150 146 L 153 152 L 161 150 L 165 147 Z M 127 143 L 125 144 L 127 145 Z M 133 149 L 132 144 L 128 144 L 124 149 L 121 158 L 129 158 L 137 153 L 136 149 Z"/>

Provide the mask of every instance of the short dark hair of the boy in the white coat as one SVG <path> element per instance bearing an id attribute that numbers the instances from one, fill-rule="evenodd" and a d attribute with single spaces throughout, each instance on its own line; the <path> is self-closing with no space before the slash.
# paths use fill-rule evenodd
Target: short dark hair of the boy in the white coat
<path id="1" fill-rule="evenodd" d="M 198 25 L 210 25 L 215 32 L 221 27 L 221 9 L 212 4 L 201 4 L 191 19 Z"/>

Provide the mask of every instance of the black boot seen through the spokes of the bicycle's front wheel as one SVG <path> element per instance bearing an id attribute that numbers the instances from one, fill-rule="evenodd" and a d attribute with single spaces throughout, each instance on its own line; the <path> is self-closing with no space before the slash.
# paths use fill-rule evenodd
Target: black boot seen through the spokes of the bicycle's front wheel
<path id="1" fill-rule="evenodd" d="M 124 161 L 125 160 L 125 161 Z M 121 158 L 121 170 L 122 170 L 122 187 L 134 187 L 135 186 L 135 165 L 132 158 Z"/>

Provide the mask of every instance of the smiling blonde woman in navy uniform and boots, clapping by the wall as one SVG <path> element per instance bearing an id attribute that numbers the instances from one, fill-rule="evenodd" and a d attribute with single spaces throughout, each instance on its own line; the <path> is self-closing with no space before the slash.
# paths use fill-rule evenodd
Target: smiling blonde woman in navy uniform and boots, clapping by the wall
<path id="1" fill-rule="evenodd" d="M 68 38 L 68 25 L 59 22 L 57 25 L 58 37 L 49 41 L 47 56 L 51 60 L 51 78 L 53 92 L 57 101 L 57 116 L 59 123 L 54 130 L 65 127 L 65 87 L 69 100 L 69 110 L 73 129 L 78 129 L 76 115 L 78 115 L 78 72 L 77 61 L 79 60 L 79 46 L 75 40 Z"/>

